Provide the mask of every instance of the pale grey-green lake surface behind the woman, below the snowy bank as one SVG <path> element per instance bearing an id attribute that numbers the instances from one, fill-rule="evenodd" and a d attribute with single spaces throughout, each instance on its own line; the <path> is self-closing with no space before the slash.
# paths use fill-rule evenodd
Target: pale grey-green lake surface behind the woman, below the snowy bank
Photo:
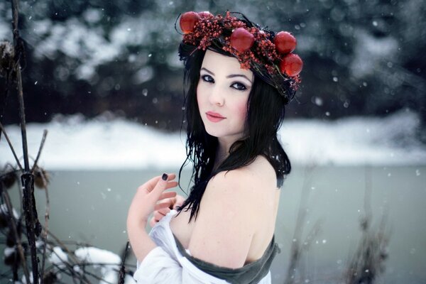
<path id="1" fill-rule="evenodd" d="M 53 171 L 50 230 L 63 241 L 83 241 L 121 255 L 127 241 L 126 212 L 133 192 L 158 174 L 158 170 Z M 378 283 L 425 283 L 425 166 L 320 166 L 308 173 L 305 167 L 295 167 L 280 197 L 275 239 L 281 253 L 273 262 L 273 283 L 283 283 L 287 275 L 304 181 L 309 195 L 303 239 L 315 222 L 322 223 L 320 234 L 302 255 L 303 279 L 310 283 L 342 283 L 339 277 L 361 237 L 359 219 L 364 213 L 368 186 L 372 229 L 377 229 L 386 212 L 391 229 L 386 270 Z M 18 198 L 16 190 L 13 195 Z M 36 190 L 36 198 L 43 216 L 44 192 Z"/>

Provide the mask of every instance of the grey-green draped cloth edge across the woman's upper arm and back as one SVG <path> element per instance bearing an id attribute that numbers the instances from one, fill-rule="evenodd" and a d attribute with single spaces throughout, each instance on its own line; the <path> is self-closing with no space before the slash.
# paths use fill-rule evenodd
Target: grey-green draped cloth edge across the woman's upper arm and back
<path id="1" fill-rule="evenodd" d="M 175 237 L 173 235 L 173 237 Z M 191 256 L 185 251 L 185 248 L 180 244 L 180 241 L 175 237 L 178 250 L 185 256 L 194 266 L 201 271 L 213 275 L 214 277 L 223 279 L 232 284 L 257 284 L 263 277 L 265 277 L 269 269 L 273 258 L 277 253 L 280 253 L 278 244 L 275 243 L 275 236 L 273 236 L 271 243 L 266 249 L 263 256 L 257 261 L 248 263 L 241 268 L 226 268 L 222 266 L 216 266 L 212 263 L 202 261 L 201 259 Z"/>

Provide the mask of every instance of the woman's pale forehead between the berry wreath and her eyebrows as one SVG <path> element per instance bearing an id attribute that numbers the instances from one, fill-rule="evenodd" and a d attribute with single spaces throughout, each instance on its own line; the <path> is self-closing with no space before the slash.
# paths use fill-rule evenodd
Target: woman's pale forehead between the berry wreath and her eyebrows
<path id="1" fill-rule="evenodd" d="M 216 71 L 224 74 L 241 74 L 249 78 L 253 77 L 251 70 L 241 69 L 240 62 L 236 58 L 222 55 L 213 50 L 206 50 L 202 67 L 214 73 Z"/>

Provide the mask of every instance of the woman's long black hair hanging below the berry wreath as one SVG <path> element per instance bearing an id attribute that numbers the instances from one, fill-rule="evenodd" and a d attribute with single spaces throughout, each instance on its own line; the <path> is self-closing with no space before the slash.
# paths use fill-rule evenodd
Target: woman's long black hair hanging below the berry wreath
<path id="1" fill-rule="evenodd" d="M 214 49 L 213 51 L 224 54 L 222 50 Z M 187 158 L 180 168 L 179 179 L 185 165 L 192 162 L 194 185 L 178 212 L 189 205 L 185 210 L 191 209 L 190 221 L 192 217 L 196 219 L 202 195 L 209 180 L 222 171 L 235 170 L 249 165 L 258 155 L 263 155 L 271 163 L 277 177 L 277 186 L 281 187 L 285 175 L 288 175 L 291 170 L 290 160 L 277 138 L 288 99 L 280 96 L 275 88 L 253 72 L 254 82 L 247 102 L 245 138 L 234 142 L 228 157 L 217 168 L 214 168 L 218 140 L 217 137 L 209 135 L 205 130 L 197 104 L 197 84 L 200 80 L 200 69 L 205 51 L 181 43 L 179 54 L 185 62 L 184 109 L 187 124 Z"/>

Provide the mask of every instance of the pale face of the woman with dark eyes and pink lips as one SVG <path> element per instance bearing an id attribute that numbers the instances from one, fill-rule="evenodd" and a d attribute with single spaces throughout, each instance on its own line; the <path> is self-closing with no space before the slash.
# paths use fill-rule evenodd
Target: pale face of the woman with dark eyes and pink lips
<path id="1" fill-rule="evenodd" d="M 253 80 L 253 72 L 241 69 L 236 58 L 206 51 L 197 85 L 197 102 L 207 133 L 232 143 L 244 136 Z"/>

